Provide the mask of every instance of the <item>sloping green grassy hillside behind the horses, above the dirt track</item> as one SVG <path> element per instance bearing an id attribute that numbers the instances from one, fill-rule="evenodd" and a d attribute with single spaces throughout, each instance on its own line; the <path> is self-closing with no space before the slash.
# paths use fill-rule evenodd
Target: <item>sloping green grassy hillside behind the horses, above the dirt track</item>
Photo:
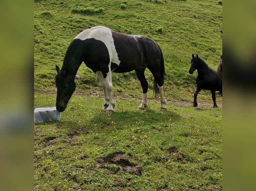
<path id="1" fill-rule="evenodd" d="M 55 94 L 55 65 L 61 67 L 70 42 L 84 29 L 103 25 L 126 34 L 145 35 L 157 42 L 165 59 L 166 97 L 192 101 L 197 72 L 188 74 L 191 54 L 198 54 L 217 69 L 222 52 L 220 4 L 218 0 L 35 0 L 34 90 Z M 76 79 L 74 95 L 93 91 L 103 94 L 98 91 L 97 77 L 84 64 L 78 74 L 81 79 Z M 148 70 L 146 78 L 151 96 L 153 77 Z M 135 72 L 113 74 L 113 86 L 115 95 L 141 97 Z M 210 91 L 203 91 L 198 98 L 211 100 Z"/>

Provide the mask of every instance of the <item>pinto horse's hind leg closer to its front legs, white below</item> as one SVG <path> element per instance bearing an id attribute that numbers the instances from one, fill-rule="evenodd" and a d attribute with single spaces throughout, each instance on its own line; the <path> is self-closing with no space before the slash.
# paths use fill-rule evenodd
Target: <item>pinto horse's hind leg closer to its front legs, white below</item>
<path id="1" fill-rule="evenodd" d="M 142 71 L 136 70 L 136 75 L 140 81 L 140 84 L 141 84 L 141 87 L 143 90 L 142 101 L 141 101 L 140 106 L 138 106 L 138 109 L 142 109 L 142 110 L 144 110 L 146 107 L 148 107 L 148 103 L 147 103 L 148 83 L 145 78 L 144 71 L 145 70 L 142 70 Z"/>

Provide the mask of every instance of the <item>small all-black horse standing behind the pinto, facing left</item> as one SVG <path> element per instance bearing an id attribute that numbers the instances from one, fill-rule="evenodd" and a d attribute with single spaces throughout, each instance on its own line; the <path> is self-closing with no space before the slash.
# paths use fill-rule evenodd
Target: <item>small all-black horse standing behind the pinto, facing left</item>
<path id="1" fill-rule="evenodd" d="M 196 79 L 196 91 L 194 94 L 194 107 L 197 107 L 197 95 L 201 90 L 210 90 L 213 98 L 213 107 L 218 107 L 216 104 L 215 91 L 219 91 L 222 96 L 222 79 L 218 76 L 217 71 L 208 67 L 208 65 L 203 61 L 198 55 L 195 57 L 192 54 L 191 66 L 189 69 L 189 74 L 193 74 L 197 70 L 198 76 Z"/>

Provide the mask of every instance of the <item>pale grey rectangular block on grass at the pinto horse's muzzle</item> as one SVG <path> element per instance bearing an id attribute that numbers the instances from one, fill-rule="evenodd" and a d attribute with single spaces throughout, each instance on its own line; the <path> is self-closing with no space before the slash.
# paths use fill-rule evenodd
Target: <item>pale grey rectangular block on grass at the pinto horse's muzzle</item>
<path id="1" fill-rule="evenodd" d="M 56 107 L 40 107 L 34 110 L 34 122 L 60 121 L 60 112 Z"/>

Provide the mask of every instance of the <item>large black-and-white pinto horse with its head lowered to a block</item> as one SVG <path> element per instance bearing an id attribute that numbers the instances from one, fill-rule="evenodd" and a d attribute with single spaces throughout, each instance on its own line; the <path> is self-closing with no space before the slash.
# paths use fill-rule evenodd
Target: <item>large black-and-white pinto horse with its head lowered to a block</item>
<path id="1" fill-rule="evenodd" d="M 148 83 L 146 68 L 154 77 L 155 97 L 160 92 L 160 108 L 166 110 L 164 98 L 164 60 L 159 46 L 142 35 L 126 35 L 103 26 L 92 27 L 78 34 L 69 45 L 61 70 L 56 66 L 56 109 L 64 111 L 76 89 L 75 76 L 82 64 L 90 68 L 99 78 L 105 94 L 103 109 L 112 113 L 116 109 L 111 72 L 125 73 L 135 70 L 141 83 L 143 97 L 138 109 L 145 109 Z"/>

